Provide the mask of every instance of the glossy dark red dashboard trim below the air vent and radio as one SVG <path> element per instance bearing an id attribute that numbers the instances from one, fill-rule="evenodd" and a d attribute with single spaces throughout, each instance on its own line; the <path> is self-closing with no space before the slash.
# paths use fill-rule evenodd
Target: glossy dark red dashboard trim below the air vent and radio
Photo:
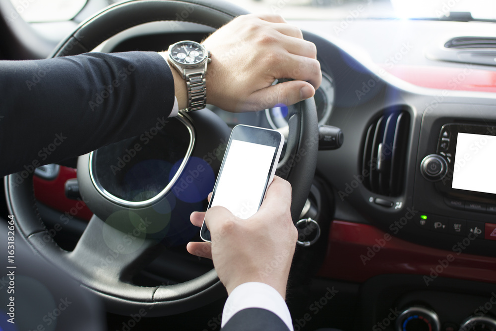
<path id="1" fill-rule="evenodd" d="M 496 283 L 496 258 L 458 251 L 413 244 L 369 224 L 334 220 L 318 275 L 364 282 L 380 274 L 410 273 L 426 275 L 426 283 L 438 276 Z"/>

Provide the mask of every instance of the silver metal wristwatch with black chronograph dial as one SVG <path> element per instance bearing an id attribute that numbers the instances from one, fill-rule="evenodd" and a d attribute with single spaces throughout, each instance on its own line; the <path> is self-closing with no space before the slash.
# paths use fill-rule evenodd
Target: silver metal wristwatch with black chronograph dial
<path id="1" fill-rule="evenodd" d="M 187 108 L 182 111 L 191 112 L 205 108 L 207 104 L 205 73 L 207 64 L 212 61 L 210 52 L 203 45 L 186 40 L 169 47 L 168 59 L 186 80 Z"/>

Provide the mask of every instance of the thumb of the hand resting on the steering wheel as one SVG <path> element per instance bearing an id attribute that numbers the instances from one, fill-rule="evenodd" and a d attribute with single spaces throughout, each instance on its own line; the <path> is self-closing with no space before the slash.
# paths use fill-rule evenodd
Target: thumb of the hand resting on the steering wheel
<path id="1" fill-rule="evenodd" d="M 272 108 L 277 104 L 293 105 L 315 94 L 313 86 L 301 80 L 291 80 L 271 85 L 252 93 L 248 97 L 248 110 Z"/>

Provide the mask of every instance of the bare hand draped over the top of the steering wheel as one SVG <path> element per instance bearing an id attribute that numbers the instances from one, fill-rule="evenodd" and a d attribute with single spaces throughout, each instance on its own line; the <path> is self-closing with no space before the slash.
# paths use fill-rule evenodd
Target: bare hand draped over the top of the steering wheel
<path id="1" fill-rule="evenodd" d="M 322 74 L 315 45 L 279 15 L 243 15 L 208 37 L 207 103 L 231 112 L 257 111 L 308 99 Z M 277 78 L 294 81 L 271 86 Z"/>

